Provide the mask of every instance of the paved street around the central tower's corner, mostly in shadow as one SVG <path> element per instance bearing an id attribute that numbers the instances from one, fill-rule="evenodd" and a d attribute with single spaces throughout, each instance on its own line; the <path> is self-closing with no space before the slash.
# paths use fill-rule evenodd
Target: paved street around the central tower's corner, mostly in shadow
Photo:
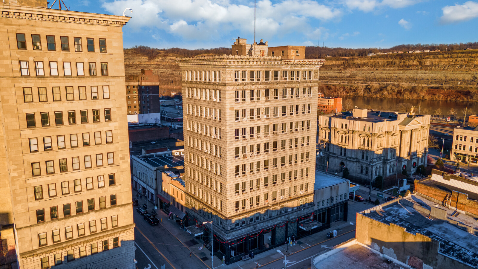
<path id="1" fill-rule="evenodd" d="M 364 193 L 368 193 L 368 189 L 358 193 L 364 196 Z M 133 196 L 136 196 L 136 193 L 133 193 Z M 143 202 L 144 200 L 141 200 L 140 204 Z M 373 204 L 349 201 L 348 206 L 347 222 L 339 221 L 333 223 L 330 229 L 301 238 L 295 246 L 289 246 L 288 248 L 280 246 L 255 255 L 253 260 L 248 259 L 230 265 L 221 265 L 220 259 L 215 257 L 215 268 L 252 269 L 256 268 L 256 263 L 258 263 L 260 268 L 281 269 L 283 267 L 283 256 L 277 252 L 276 249 L 279 249 L 282 253 L 286 253 L 286 250 L 288 250 L 287 259 L 293 261 L 293 263 L 287 265 L 287 268 L 307 269 L 310 267 L 310 258 L 312 256 L 321 250 L 326 250 L 327 247 L 335 246 L 353 238 L 355 236 L 356 212 L 370 208 Z M 151 209 L 152 205 L 148 204 L 148 208 Z M 179 224 L 173 220 L 168 220 L 165 213 L 158 210 L 158 218 L 163 218 L 163 222 L 157 226 L 151 226 L 136 212 L 136 206 L 133 207 L 133 212 L 136 224 L 137 269 L 148 268 L 149 265 L 151 265 L 151 269 L 161 269 L 163 264 L 166 269 L 211 268 L 211 252 L 207 249 L 198 249 L 203 242 L 201 240 L 196 241 L 192 235 L 180 229 Z M 337 230 L 338 236 L 327 238 L 327 232 L 334 229 Z M 190 251 L 192 252 L 192 257 L 189 257 Z"/>

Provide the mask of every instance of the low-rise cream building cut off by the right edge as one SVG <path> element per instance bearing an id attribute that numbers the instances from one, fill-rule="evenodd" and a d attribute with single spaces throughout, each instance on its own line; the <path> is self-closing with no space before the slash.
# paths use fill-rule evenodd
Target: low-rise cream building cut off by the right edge
<path id="1" fill-rule="evenodd" d="M 462 162 L 477 163 L 478 160 L 478 127 L 453 129 L 453 145 L 450 158 Z"/>

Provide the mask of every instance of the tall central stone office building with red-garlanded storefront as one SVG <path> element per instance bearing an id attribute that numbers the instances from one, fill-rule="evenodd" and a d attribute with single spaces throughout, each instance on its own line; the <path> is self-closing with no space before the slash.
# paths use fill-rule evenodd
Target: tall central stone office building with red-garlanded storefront
<path id="1" fill-rule="evenodd" d="M 232 55 L 177 59 L 188 225 L 213 221 L 214 250 L 228 263 L 300 236 L 299 223 L 314 218 L 324 60 L 267 55 L 265 43 L 238 38 Z"/>

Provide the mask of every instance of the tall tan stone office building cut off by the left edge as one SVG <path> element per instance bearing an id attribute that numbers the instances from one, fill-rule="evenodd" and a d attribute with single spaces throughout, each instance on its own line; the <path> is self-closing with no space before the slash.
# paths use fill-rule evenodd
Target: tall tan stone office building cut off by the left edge
<path id="1" fill-rule="evenodd" d="M 22 269 L 133 268 L 122 26 L 0 5 L 0 235 Z M 16 257 L 15 257 L 16 256 Z"/>

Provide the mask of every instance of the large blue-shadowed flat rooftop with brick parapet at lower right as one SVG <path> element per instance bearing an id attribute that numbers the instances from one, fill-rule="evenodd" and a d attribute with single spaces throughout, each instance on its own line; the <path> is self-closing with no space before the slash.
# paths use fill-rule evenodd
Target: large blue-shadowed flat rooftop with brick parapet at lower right
<path id="1" fill-rule="evenodd" d="M 429 217 L 431 207 L 446 210 L 445 220 Z M 419 194 L 411 194 L 360 212 L 381 223 L 404 227 L 408 233 L 430 237 L 440 242 L 441 254 L 478 268 L 477 218 L 455 213 L 455 210 L 438 205 Z"/>

